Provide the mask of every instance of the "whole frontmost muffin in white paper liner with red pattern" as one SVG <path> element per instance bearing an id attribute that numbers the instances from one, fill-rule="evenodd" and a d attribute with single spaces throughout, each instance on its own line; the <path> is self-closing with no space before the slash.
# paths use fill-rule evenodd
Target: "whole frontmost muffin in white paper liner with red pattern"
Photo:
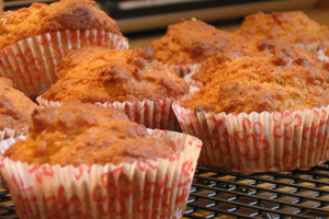
<path id="1" fill-rule="evenodd" d="M 20 218 L 181 217 L 200 140 L 147 131 L 114 108 L 88 104 L 32 117 L 26 140 L 0 143 L 9 147 L 1 173 Z"/>

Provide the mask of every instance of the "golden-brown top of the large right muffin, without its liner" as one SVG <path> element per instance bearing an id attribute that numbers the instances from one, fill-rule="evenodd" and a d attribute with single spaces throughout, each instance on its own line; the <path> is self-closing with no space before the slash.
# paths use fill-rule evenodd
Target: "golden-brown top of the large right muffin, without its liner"
<path id="1" fill-rule="evenodd" d="M 224 61 L 185 107 L 238 114 L 329 105 L 329 68 L 315 54 L 266 39 L 253 42 L 253 47 L 259 53 L 252 56 L 218 54 L 217 60 Z"/>

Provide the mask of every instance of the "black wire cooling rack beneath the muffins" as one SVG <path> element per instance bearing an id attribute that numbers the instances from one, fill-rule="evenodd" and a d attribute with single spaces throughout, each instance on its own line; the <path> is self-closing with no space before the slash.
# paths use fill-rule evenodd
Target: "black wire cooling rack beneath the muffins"
<path id="1" fill-rule="evenodd" d="M 0 189 L 2 218 L 18 218 L 7 189 Z M 254 174 L 197 166 L 183 218 L 329 218 L 329 162 Z"/>

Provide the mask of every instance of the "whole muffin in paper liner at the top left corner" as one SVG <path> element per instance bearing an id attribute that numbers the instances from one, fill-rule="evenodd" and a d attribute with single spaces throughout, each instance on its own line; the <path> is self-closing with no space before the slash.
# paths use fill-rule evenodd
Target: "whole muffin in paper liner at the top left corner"
<path id="1" fill-rule="evenodd" d="M 0 72 L 36 97 L 57 80 L 60 59 L 75 48 L 127 48 L 116 22 L 89 0 L 61 0 L 0 15 Z"/>

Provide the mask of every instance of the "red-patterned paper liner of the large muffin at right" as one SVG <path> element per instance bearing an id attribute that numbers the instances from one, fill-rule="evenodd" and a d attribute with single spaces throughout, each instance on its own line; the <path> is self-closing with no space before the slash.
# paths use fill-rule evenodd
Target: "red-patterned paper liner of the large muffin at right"
<path id="1" fill-rule="evenodd" d="M 305 169 L 329 160 L 329 107 L 284 113 L 195 113 L 173 103 L 182 131 L 203 141 L 198 164 L 238 172 Z"/>

